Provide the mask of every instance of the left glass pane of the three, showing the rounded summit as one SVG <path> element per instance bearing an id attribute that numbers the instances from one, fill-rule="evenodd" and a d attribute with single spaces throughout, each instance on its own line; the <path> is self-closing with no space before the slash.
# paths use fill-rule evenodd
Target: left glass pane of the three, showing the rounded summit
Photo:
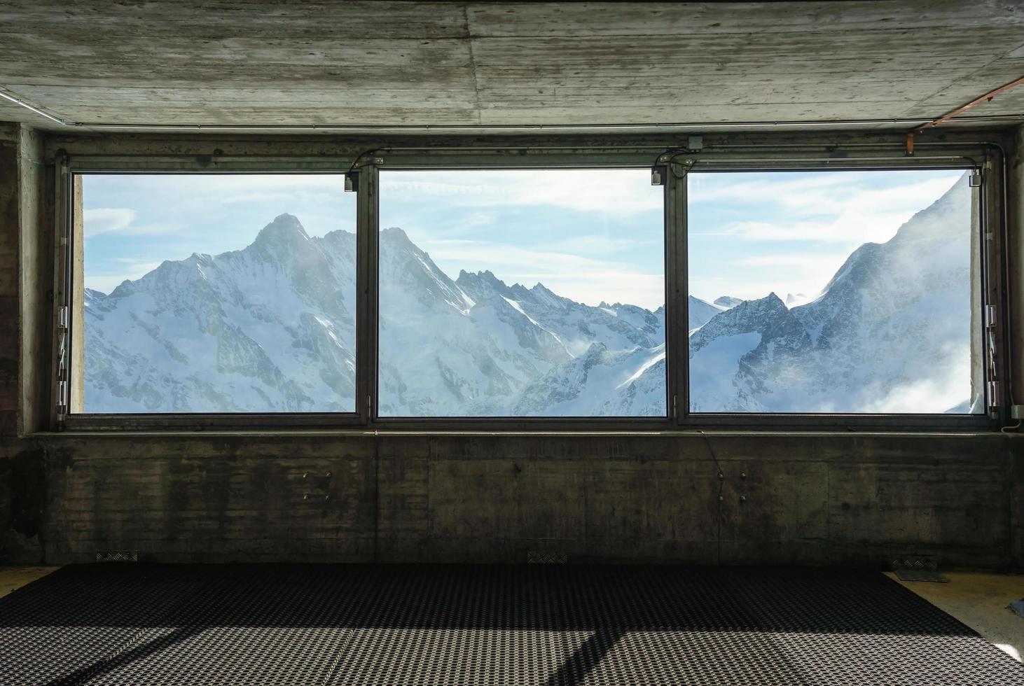
<path id="1" fill-rule="evenodd" d="M 354 411 L 355 194 L 342 176 L 76 182 L 73 412 Z"/>

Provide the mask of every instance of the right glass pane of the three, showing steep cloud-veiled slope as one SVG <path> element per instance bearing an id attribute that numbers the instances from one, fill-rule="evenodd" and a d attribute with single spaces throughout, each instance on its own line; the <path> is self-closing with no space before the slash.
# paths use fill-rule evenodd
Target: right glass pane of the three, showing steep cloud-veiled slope
<path id="1" fill-rule="evenodd" d="M 966 172 L 688 178 L 691 412 L 983 411 Z"/>

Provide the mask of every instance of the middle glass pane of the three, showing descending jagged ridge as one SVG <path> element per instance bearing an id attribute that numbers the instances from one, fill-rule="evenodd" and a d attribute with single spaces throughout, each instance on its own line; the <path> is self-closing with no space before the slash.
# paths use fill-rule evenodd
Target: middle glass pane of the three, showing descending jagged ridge
<path id="1" fill-rule="evenodd" d="M 648 170 L 381 172 L 380 414 L 666 415 Z"/>

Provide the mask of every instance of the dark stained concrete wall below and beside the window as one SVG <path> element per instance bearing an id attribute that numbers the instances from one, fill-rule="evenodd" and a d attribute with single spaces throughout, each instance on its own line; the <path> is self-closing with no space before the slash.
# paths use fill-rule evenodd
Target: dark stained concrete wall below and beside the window
<path id="1" fill-rule="evenodd" d="M 711 445 L 693 432 L 19 438 L 18 422 L 31 434 L 45 408 L 36 393 L 45 365 L 33 354 L 46 349 L 49 316 L 36 273 L 48 251 L 38 154 L 31 131 L 0 125 L 0 564 L 111 550 L 217 562 L 522 562 L 527 551 L 575 561 L 1024 562 L 1024 440 L 998 433 L 733 430 L 709 433 Z M 1016 173 L 1019 211 L 1019 164 Z"/>

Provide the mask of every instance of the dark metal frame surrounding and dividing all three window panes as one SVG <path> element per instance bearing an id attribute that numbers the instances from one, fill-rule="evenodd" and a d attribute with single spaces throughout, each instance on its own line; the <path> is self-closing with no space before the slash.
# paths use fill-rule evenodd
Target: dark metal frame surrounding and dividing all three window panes
<path id="1" fill-rule="evenodd" d="M 365 145 L 371 147 L 371 145 Z M 1005 260 L 998 216 L 1005 202 L 997 174 L 1005 164 L 1001 154 L 984 143 L 922 143 L 914 157 L 897 145 L 856 143 L 719 145 L 713 151 L 682 151 L 660 143 L 635 146 L 573 147 L 523 146 L 467 148 L 417 146 L 378 147 L 352 156 L 324 157 L 199 157 L 196 156 L 74 156 L 58 155 L 55 173 L 54 228 L 65 242 L 54 242 L 54 304 L 69 306 L 72 257 L 72 182 L 77 173 L 351 173 L 356 192 L 356 404 L 355 413 L 272 414 L 79 414 L 57 421 L 55 406 L 58 382 L 59 327 L 57 307 L 53 313 L 51 427 L 79 431 L 105 430 L 382 430 L 416 432 L 628 432 L 658 434 L 699 429 L 742 431 L 964 431 L 997 426 L 990 414 L 727 414 L 689 412 L 687 179 L 679 175 L 680 164 L 694 161 L 693 169 L 714 171 L 869 171 L 904 168 L 981 169 L 977 218 L 981 249 L 979 276 L 981 311 L 994 305 L 994 323 L 980 321 L 984 355 L 986 412 L 992 406 L 991 382 L 996 382 L 995 405 L 1005 406 L 1006 366 L 998 355 L 989 357 L 990 341 L 1005 350 L 1006 332 L 1001 315 L 1007 311 L 1002 269 Z M 367 157 L 373 153 L 373 157 Z M 649 418 L 456 418 L 379 417 L 378 410 L 378 253 L 380 217 L 380 171 L 383 170 L 500 170 L 500 169 L 653 169 L 665 179 L 665 269 L 666 269 L 666 365 L 667 416 Z M 993 211 L 993 209 L 995 211 Z M 992 240 L 991 237 L 996 237 Z M 987 240 L 986 240 L 987 237 Z M 81 297 L 80 295 L 78 297 Z M 69 317 L 70 318 L 70 317 Z M 71 323 L 69 321 L 69 325 Z M 975 332 L 972 331 L 972 335 Z M 71 340 L 69 333 L 68 340 Z M 72 351 L 68 353 L 69 359 Z M 989 373 L 994 369 L 994 377 Z"/>

